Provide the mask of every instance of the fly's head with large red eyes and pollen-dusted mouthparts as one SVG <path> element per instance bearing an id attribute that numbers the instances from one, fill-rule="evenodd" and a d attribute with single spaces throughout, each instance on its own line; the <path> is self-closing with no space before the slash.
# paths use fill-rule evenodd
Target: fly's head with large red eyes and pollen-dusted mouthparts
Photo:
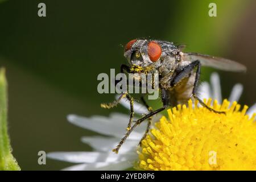
<path id="1" fill-rule="evenodd" d="M 129 61 L 133 73 L 160 73 L 172 69 L 170 61 L 175 61 L 179 49 L 173 43 L 161 40 L 134 39 L 125 46 L 124 56 Z M 174 58 L 172 60 L 172 58 Z M 168 68 L 163 68 L 168 65 Z"/>

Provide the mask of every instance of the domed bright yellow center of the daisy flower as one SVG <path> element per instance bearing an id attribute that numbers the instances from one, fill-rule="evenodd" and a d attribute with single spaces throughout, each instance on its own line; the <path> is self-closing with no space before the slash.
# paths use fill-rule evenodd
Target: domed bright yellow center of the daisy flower
<path id="1" fill-rule="evenodd" d="M 205 100 L 210 106 L 211 99 Z M 137 168 L 143 170 L 256 170 L 255 114 L 247 106 L 213 102 L 217 114 L 205 107 L 177 105 L 168 109 L 138 148 Z"/>

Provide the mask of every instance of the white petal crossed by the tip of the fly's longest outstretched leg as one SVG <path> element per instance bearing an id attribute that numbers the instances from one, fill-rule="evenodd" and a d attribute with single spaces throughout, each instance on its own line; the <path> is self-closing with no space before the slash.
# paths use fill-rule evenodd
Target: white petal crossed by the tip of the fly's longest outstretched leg
<path id="1" fill-rule="evenodd" d="M 88 143 L 95 150 L 105 152 L 112 151 L 112 149 L 115 148 L 115 146 L 117 146 L 118 142 L 120 141 L 119 138 L 113 137 L 82 137 L 81 140 L 84 143 Z M 138 138 L 138 140 L 127 139 L 126 142 L 120 148 L 118 154 L 123 154 L 128 151 L 135 151 L 139 144 L 139 140 L 140 138 Z"/>

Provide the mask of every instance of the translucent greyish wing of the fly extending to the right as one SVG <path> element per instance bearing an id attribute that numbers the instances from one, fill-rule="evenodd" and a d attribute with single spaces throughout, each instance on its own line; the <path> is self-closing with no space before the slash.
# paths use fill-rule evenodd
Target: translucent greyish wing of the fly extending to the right
<path id="1" fill-rule="evenodd" d="M 183 53 L 182 60 L 193 62 L 199 60 L 205 67 L 212 67 L 223 71 L 245 72 L 246 67 L 240 63 L 221 57 L 201 55 L 199 53 Z"/>

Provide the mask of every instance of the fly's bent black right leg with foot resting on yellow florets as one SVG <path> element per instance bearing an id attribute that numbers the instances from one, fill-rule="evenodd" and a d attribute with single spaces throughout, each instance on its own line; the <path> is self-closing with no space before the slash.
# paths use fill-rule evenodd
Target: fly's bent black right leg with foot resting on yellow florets
<path id="1" fill-rule="evenodd" d="M 183 78 L 188 77 L 189 74 L 193 71 L 193 69 L 196 69 L 196 78 L 195 78 L 195 83 L 193 85 L 193 90 L 192 90 L 192 96 L 199 101 L 199 103 L 206 107 L 208 110 L 213 111 L 214 113 L 219 113 L 219 114 L 225 114 L 225 111 L 217 111 L 206 105 L 199 97 L 196 96 L 197 88 L 198 88 L 198 83 L 200 80 L 200 71 L 201 71 L 201 63 L 199 60 L 193 61 L 191 64 L 187 65 L 186 67 L 183 68 L 183 71 L 178 73 L 174 79 L 171 82 L 171 86 L 175 86 L 178 84 Z"/>

